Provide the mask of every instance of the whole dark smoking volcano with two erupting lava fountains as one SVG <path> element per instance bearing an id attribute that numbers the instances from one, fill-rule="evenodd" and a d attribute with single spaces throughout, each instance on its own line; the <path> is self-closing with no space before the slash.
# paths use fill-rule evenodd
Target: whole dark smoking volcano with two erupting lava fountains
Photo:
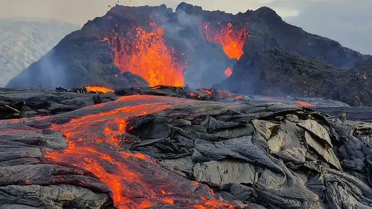
<path id="1" fill-rule="evenodd" d="M 282 70 L 285 64 L 270 67 L 268 57 L 276 63 L 292 60 L 293 70 Z M 372 105 L 372 100 L 357 99 L 358 91 L 369 93 L 362 86 L 368 85 L 370 74 L 355 91 L 335 86 L 340 80 L 355 86 L 350 76 L 335 75 L 349 75 L 348 69 L 369 58 L 289 25 L 267 7 L 233 15 L 186 3 L 175 11 L 165 5 L 117 5 L 67 35 L 7 87 L 213 86 L 237 93 L 314 96 Z M 312 83 L 298 80 L 300 74 Z M 285 80 L 290 81 L 276 90 Z M 319 82 L 325 85 L 323 90 L 314 88 Z"/>

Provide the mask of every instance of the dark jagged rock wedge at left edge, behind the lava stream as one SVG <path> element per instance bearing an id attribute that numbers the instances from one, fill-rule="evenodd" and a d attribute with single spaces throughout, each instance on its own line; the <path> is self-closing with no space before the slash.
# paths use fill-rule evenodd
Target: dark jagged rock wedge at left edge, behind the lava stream
<path id="1" fill-rule="evenodd" d="M 85 94 L 48 89 L 0 89 L 0 119 L 56 115 L 116 99 L 114 94 Z"/>

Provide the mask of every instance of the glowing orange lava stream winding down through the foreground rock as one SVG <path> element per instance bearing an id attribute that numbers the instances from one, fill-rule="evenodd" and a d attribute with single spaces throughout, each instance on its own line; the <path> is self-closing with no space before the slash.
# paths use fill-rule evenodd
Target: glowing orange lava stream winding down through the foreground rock
<path id="1" fill-rule="evenodd" d="M 122 137 L 129 117 L 191 102 L 195 103 L 179 98 L 135 95 L 66 113 L 74 119 L 50 128 L 65 136 L 68 147 L 63 151 L 47 151 L 45 157 L 50 164 L 72 165 L 92 173 L 109 187 L 117 209 L 168 208 L 167 205 L 173 204 L 195 209 L 233 209 L 232 205 L 215 199 L 213 192 L 198 194 L 208 190 L 196 189 L 202 186 L 197 182 L 166 170 L 147 155 L 120 147 L 125 143 Z"/>

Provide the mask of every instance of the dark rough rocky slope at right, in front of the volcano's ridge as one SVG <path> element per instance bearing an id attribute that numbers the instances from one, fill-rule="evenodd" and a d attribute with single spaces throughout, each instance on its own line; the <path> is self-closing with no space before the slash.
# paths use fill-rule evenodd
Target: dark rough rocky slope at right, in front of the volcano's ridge
<path id="1" fill-rule="evenodd" d="M 242 58 L 233 75 L 213 88 L 243 94 L 324 97 L 353 106 L 371 106 L 371 60 L 350 70 L 309 60 L 282 49 Z"/>

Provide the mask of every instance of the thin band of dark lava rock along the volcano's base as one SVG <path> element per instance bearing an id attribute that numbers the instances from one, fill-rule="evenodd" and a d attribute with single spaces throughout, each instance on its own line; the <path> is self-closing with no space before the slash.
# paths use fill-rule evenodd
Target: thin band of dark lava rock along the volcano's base
<path id="1" fill-rule="evenodd" d="M 288 104 L 298 105 L 294 99 L 308 101 L 312 107 L 329 115 L 338 116 L 340 119 L 372 121 L 370 107 L 353 107 L 346 104 L 317 99 L 317 98 L 282 98 L 280 100 L 267 101 L 267 97 L 246 96 L 227 90 L 217 89 L 191 89 L 187 87 L 156 86 L 153 88 L 130 88 L 115 90 L 115 92 L 102 93 L 90 92 L 85 87 L 63 89 L 24 89 L 10 90 L 0 89 L 0 116 L 1 119 L 19 119 L 38 116 L 50 116 L 63 112 L 77 110 L 79 108 L 102 104 L 117 100 L 120 96 L 130 95 L 155 95 L 187 98 L 201 101 L 216 102 L 241 102 L 246 104 Z M 258 108 L 260 109 L 260 108 Z M 236 119 L 240 118 L 238 115 Z M 222 119 L 223 117 L 220 117 Z M 206 120 L 207 121 L 207 120 Z M 208 124 L 215 122 L 208 120 Z M 189 121 L 180 120 L 180 123 Z"/>

